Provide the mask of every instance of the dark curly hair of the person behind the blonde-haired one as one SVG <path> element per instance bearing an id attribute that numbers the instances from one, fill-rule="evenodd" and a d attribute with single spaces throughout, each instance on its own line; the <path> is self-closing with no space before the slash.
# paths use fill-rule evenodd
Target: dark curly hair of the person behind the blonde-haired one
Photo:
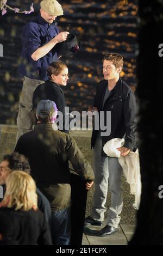
<path id="1" fill-rule="evenodd" d="M 24 155 L 13 152 L 10 155 L 4 155 L 3 161 L 9 162 L 8 167 L 11 169 L 11 171 L 22 170 L 23 172 L 30 174 L 29 161 Z"/>

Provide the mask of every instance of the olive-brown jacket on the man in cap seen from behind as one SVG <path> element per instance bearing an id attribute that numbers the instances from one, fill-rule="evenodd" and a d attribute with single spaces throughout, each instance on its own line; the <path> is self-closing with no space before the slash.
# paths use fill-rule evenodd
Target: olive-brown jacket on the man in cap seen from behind
<path id="1" fill-rule="evenodd" d="M 53 210 L 70 206 L 68 161 L 85 181 L 94 179 L 93 170 L 76 141 L 65 132 L 54 131 L 52 124 L 37 124 L 34 131 L 18 139 L 15 151 L 28 157 L 31 175 Z"/>

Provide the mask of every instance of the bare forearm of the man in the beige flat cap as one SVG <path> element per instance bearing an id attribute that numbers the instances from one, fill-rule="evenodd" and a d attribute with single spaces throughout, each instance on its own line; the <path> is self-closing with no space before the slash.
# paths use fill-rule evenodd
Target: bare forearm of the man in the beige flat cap
<path id="1" fill-rule="evenodd" d="M 52 48 L 58 43 L 55 38 L 53 38 L 51 41 L 49 41 L 46 45 L 43 45 L 32 54 L 31 58 L 35 61 L 45 56 L 49 51 L 52 50 Z"/>

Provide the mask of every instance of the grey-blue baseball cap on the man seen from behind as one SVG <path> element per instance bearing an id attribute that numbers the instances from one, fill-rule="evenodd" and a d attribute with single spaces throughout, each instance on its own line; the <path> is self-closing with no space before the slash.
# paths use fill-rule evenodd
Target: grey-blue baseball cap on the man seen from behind
<path id="1" fill-rule="evenodd" d="M 52 100 L 39 101 L 36 108 L 36 115 L 42 115 L 42 117 L 49 117 L 49 120 L 53 122 L 57 117 L 58 108 Z M 54 114 L 55 113 L 55 114 Z"/>

